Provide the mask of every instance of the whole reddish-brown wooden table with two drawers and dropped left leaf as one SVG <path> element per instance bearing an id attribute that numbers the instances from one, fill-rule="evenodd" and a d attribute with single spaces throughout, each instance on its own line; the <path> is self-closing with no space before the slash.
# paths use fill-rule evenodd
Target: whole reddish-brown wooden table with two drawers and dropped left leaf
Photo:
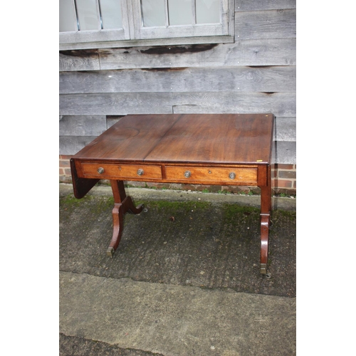
<path id="1" fill-rule="evenodd" d="M 124 181 L 261 188 L 261 273 L 266 274 L 271 216 L 273 114 L 127 115 L 70 159 L 80 199 L 109 179 L 114 196 L 108 255 L 120 243 L 123 215 L 138 214 Z"/>

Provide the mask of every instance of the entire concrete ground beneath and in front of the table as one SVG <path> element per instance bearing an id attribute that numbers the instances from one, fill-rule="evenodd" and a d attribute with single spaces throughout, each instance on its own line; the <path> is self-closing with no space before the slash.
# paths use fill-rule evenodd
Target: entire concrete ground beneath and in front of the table
<path id="1" fill-rule="evenodd" d="M 260 197 L 128 188 L 146 211 L 125 215 L 110 258 L 110 187 L 72 189 L 60 185 L 61 356 L 295 355 L 295 199 L 273 211 L 266 278 Z"/>

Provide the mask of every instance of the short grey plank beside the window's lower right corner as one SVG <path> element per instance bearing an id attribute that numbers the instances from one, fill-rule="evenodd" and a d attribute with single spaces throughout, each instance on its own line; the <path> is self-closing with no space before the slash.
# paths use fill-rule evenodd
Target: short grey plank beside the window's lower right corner
<path id="1" fill-rule="evenodd" d="M 236 12 L 236 39 L 294 38 L 296 10 Z"/>

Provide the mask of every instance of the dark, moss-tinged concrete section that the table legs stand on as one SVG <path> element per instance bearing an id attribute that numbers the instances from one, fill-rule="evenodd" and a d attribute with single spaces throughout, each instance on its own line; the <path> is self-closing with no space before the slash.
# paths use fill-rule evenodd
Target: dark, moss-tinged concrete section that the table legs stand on
<path id="1" fill-rule="evenodd" d="M 259 207 L 142 197 L 133 201 L 135 206 L 144 203 L 147 211 L 125 214 L 119 249 L 108 258 L 112 197 L 61 197 L 62 271 L 295 295 L 295 211 L 272 211 L 268 258 L 272 278 L 267 279 L 259 273 Z"/>

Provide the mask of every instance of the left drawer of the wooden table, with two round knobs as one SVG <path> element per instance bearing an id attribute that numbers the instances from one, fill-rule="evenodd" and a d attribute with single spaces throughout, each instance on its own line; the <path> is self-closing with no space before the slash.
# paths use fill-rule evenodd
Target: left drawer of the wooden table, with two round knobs
<path id="1" fill-rule="evenodd" d="M 159 165 L 82 163 L 81 168 L 84 177 L 132 180 L 162 179 L 162 168 Z"/>

